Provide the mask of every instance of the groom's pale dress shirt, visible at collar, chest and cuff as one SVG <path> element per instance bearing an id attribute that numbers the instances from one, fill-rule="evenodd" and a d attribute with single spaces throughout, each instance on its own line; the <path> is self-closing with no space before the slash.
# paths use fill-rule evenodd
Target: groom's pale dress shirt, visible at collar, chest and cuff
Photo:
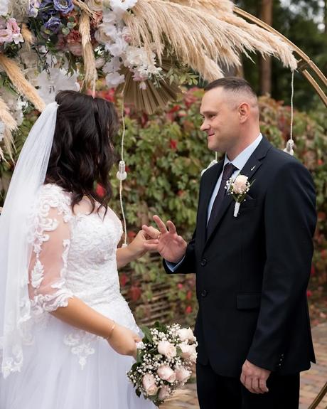
<path id="1" fill-rule="evenodd" d="M 238 154 L 236 156 L 236 158 L 232 161 L 230 161 L 228 159 L 227 154 L 225 154 L 225 160 L 224 160 L 224 166 L 225 164 L 231 163 L 233 164 L 237 169 L 233 172 L 232 174 L 232 178 L 235 179 L 235 177 L 240 174 L 240 171 L 243 169 L 243 167 L 245 166 L 245 164 L 247 163 L 247 161 L 250 159 L 250 156 L 253 154 L 253 152 L 255 151 L 255 149 L 257 149 L 259 143 L 262 140 L 262 134 L 260 133 L 259 136 L 257 137 L 257 139 L 255 139 L 252 144 L 250 144 L 248 147 L 246 147 L 240 154 Z M 211 195 L 210 201 L 209 201 L 209 205 L 208 205 L 208 217 L 207 217 L 207 224 L 210 218 L 210 213 L 213 209 L 213 202 L 215 201 L 215 196 L 217 196 L 217 193 L 219 191 L 220 188 L 220 184 L 221 184 L 221 179 L 223 179 L 223 172 L 220 173 L 219 177 L 218 177 L 218 181 L 215 185 L 215 188 L 213 189 L 213 194 Z M 168 262 L 166 261 L 166 265 L 169 268 L 169 270 L 171 270 L 172 272 L 176 270 L 176 268 L 178 267 L 178 265 L 181 264 L 181 262 L 184 260 L 184 257 L 182 258 L 182 260 L 180 262 L 178 262 L 178 264 L 174 264 L 173 262 Z"/>

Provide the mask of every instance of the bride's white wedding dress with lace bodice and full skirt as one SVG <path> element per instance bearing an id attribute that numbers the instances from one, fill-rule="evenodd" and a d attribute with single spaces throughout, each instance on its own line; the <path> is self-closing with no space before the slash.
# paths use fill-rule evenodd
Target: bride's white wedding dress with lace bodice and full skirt
<path id="1" fill-rule="evenodd" d="M 0 408 L 154 408 L 149 400 L 136 396 L 127 378 L 134 358 L 117 354 L 100 336 L 49 314 L 65 307 L 70 297 L 78 297 L 118 324 L 140 332 L 119 291 L 119 219 L 110 208 L 104 218 L 97 213 L 73 213 L 70 193 L 54 184 L 41 187 L 36 203 L 30 234 L 33 318 L 24 340 L 21 371 L 16 362 L 6 362 L 11 373 L 0 380 Z"/>

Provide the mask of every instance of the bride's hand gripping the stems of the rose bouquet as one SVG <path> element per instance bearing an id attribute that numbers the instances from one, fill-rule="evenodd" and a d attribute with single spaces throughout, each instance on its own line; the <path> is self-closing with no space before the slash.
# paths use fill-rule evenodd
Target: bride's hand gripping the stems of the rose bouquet
<path id="1" fill-rule="evenodd" d="M 116 324 L 107 341 L 118 354 L 136 358 L 136 342 L 141 341 L 141 338 L 126 326 Z"/>

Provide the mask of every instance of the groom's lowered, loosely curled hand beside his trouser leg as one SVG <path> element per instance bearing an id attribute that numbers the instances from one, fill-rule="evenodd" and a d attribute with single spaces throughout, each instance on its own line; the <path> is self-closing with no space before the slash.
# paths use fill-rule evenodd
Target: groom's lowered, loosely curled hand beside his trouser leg
<path id="1" fill-rule="evenodd" d="M 269 392 L 267 379 L 270 373 L 268 369 L 259 368 L 246 360 L 242 366 L 241 382 L 252 393 L 266 393 Z"/>

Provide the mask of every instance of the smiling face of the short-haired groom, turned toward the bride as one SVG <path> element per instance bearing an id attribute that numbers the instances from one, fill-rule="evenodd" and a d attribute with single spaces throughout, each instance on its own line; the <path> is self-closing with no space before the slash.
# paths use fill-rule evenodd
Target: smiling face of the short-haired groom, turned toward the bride
<path id="1" fill-rule="evenodd" d="M 205 92 L 200 107 L 203 124 L 200 129 L 208 137 L 208 148 L 228 152 L 240 134 L 240 117 L 231 92 L 222 87 Z"/>

